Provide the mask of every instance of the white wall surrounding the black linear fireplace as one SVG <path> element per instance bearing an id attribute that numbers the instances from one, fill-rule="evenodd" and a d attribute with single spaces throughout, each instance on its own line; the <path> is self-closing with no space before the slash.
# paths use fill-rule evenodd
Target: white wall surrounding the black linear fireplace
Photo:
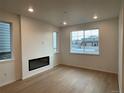
<path id="1" fill-rule="evenodd" d="M 53 25 L 21 16 L 22 78 L 28 78 L 58 64 L 59 54 L 52 48 L 52 32 L 59 31 Z M 28 70 L 28 60 L 50 56 L 50 65 L 33 71 Z"/>

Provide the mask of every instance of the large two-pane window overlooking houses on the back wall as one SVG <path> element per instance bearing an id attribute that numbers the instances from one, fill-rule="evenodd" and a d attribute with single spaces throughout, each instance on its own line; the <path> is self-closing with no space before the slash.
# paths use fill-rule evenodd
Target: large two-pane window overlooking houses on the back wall
<path id="1" fill-rule="evenodd" d="M 71 53 L 99 54 L 99 30 L 71 32 Z"/>

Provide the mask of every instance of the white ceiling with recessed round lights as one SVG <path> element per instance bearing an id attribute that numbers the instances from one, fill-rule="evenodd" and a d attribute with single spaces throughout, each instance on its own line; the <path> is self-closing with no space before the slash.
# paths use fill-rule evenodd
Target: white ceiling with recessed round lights
<path id="1" fill-rule="evenodd" d="M 34 13 L 27 11 L 29 6 L 34 8 Z M 68 25 L 96 21 L 94 15 L 99 17 L 97 20 L 117 17 L 119 6 L 120 0 L 0 0 L 1 9 L 56 26 L 63 26 L 63 21 Z"/>

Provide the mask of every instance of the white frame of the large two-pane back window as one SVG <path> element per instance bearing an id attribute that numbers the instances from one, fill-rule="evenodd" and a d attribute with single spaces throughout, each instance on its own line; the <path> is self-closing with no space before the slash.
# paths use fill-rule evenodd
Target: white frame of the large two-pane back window
<path id="1" fill-rule="evenodd" d="M 95 54 L 95 53 L 78 53 L 78 52 L 72 52 L 71 51 L 71 48 L 72 48 L 72 32 L 78 32 L 78 31 L 83 31 L 83 32 L 85 32 L 85 31 L 87 31 L 87 30 L 98 30 L 98 54 Z M 85 37 L 85 35 L 84 35 L 84 37 Z M 82 29 L 82 30 L 77 30 L 77 31 L 71 31 L 70 32 L 70 53 L 71 54 L 82 54 L 82 55 L 97 55 L 97 56 L 99 56 L 100 55 L 100 29 L 99 28 L 93 28 L 93 29 Z"/>

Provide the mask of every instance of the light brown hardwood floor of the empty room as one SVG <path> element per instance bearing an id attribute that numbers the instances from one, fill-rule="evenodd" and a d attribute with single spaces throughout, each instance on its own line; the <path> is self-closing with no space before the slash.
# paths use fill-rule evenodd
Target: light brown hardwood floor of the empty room
<path id="1" fill-rule="evenodd" d="M 117 75 L 57 66 L 37 76 L 0 88 L 0 93 L 116 93 Z"/>

